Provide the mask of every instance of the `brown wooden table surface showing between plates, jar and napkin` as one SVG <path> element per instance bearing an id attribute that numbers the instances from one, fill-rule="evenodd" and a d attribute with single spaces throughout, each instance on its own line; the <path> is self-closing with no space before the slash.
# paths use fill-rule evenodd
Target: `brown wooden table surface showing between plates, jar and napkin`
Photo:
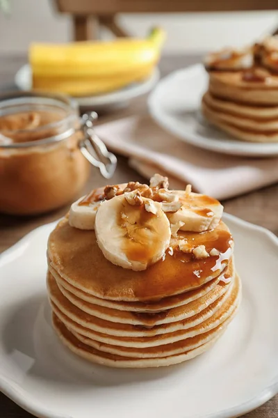
<path id="1" fill-rule="evenodd" d="M 199 56 L 171 56 L 165 57 L 161 61 L 161 72 L 163 75 L 172 70 L 182 68 L 191 63 L 199 61 Z M 0 88 L 8 90 L 14 88 L 13 77 L 17 69 L 26 62 L 25 56 L 0 56 Z M 101 115 L 101 123 L 111 121 L 115 118 L 129 116 L 131 114 L 146 114 L 146 97 L 134 100 L 127 109 L 115 111 L 113 114 Z M 129 180 L 144 180 L 141 176 L 130 169 L 126 158 L 119 157 L 117 172 L 113 178 L 113 183 L 124 183 Z M 97 185 L 106 184 L 96 170 L 92 170 L 90 182 L 85 188 L 85 192 Z M 253 222 L 278 235 L 278 185 L 265 187 L 264 189 L 239 196 L 235 199 L 224 201 L 225 210 L 233 215 Z M 0 215 L 0 253 L 10 245 L 15 244 L 32 229 L 54 221 L 61 217 L 67 208 L 62 208 L 56 212 L 40 217 L 10 217 Z M 1 303 L 1 300 L 0 300 Z M 19 406 L 15 405 L 6 396 L 0 394 L 0 417 L 1 418 L 31 418 Z M 278 396 L 273 398 L 261 408 L 245 415 L 246 418 L 277 418 L 278 417 Z"/>

